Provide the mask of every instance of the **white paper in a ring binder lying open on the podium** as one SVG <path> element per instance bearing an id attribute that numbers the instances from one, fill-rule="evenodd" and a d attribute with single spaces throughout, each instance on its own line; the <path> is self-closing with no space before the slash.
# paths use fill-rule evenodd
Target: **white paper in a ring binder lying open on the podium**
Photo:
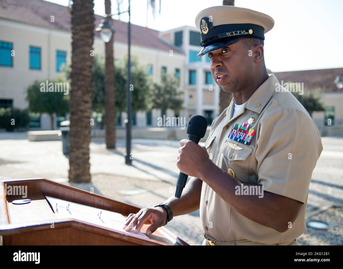
<path id="1" fill-rule="evenodd" d="M 93 208 L 88 205 L 72 203 L 50 196 L 45 196 L 45 198 L 58 218 L 74 218 L 75 220 L 148 238 L 142 232 L 138 232 L 137 234 L 134 233 L 134 227 L 129 232 L 125 231 L 122 227 L 126 222 L 126 218 L 119 213 Z"/>

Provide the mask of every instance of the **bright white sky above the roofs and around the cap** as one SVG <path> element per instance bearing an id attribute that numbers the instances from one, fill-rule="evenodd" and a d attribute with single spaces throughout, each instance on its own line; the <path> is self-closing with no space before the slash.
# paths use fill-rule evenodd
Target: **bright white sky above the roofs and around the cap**
<path id="1" fill-rule="evenodd" d="M 68 5 L 69 0 L 48 0 Z M 150 0 L 149 0 L 150 1 Z M 105 14 L 104 0 L 94 0 L 94 12 Z M 128 1 L 122 0 L 122 11 Z M 147 0 L 131 0 L 131 23 L 166 31 L 194 25 L 202 9 L 222 5 L 222 0 L 162 0 L 161 14 L 156 18 L 147 10 Z M 342 0 L 235 0 L 235 6 L 270 15 L 274 28 L 265 34 L 265 63 L 272 72 L 343 67 L 343 1 Z M 117 1 L 112 0 L 112 12 Z M 118 19 L 118 16 L 114 16 Z M 122 21 L 128 21 L 126 14 Z"/>

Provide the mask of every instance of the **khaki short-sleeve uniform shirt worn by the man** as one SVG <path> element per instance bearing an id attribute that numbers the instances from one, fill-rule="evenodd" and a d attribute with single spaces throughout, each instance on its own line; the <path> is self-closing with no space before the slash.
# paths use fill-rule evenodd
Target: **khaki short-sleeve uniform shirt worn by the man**
<path id="1" fill-rule="evenodd" d="M 232 100 L 212 123 L 205 147 L 218 167 L 226 172 L 231 169 L 241 182 L 263 185 L 264 191 L 300 201 L 300 211 L 292 228 L 280 233 L 241 215 L 203 182 L 200 218 L 205 233 L 218 242 L 246 239 L 276 244 L 294 240 L 306 231 L 309 183 L 323 147 L 306 109 L 282 86 L 281 91 L 276 90 L 277 83 L 271 74 L 234 117 Z M 248 123 L 252 117 L 249 127 L 255 134 L 250 145 L 228 138 L 235 123 Z"/>

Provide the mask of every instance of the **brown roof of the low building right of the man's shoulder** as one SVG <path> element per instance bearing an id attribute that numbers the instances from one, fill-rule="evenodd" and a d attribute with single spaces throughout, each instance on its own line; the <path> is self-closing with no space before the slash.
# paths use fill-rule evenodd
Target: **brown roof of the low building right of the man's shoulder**
<path id="1" fill-rule="evenodd" d="M 320 90 L 322 92 L 343 92 L 334 83 L 335 78 L 343 74 L 343 68 L 273 72 L 281 83 L 304 82 L 304 92 Z"/>

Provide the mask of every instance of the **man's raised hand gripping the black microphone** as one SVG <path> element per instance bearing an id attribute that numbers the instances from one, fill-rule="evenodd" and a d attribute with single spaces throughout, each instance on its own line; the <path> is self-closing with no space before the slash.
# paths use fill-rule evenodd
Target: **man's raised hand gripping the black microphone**
<path id="1" fill-rule="evenodd" d="M 188 139 L 182 139 L 180 145 L 177 168 L 188 176 L 201 179 L 202 170 L 207 169 L 212 163 L 206 148 Z"/>

